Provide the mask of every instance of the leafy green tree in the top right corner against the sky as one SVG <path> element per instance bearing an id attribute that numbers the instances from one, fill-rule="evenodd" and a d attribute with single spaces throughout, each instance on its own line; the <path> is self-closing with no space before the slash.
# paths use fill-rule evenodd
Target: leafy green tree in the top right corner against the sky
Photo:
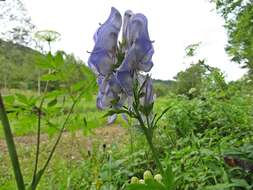
<path id="1" fill-rule="evenodd" d="M 253 0 L 212 0 L 225 20 L 226 51 L 253 77 Z"/>

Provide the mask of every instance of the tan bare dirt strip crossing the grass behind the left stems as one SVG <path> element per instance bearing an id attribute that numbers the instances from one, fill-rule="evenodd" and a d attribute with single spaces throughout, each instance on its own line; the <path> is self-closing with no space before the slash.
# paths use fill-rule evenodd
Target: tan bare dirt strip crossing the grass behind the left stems
<path id="1" fill-rule="evenodd" d="M 82 131 L 76 131 L 74 133 L 64 132 L 60 143 L 56 149 L 56 154 L 61 154 L 64 157 L 71 157 L 72 159 L 78 159 L 81 154 L 86 154 L 87 151 L 91 151 L 94 144 L 108 147 L 113 143 L 122 141 L 126 134 L 126 129 L 119 125 L 110 125 L 93 130 L 93 134 L 84 136 Z M 41 150 L 50 151 L 50 147 L 55 142 L 57 135 L 49 137 L 47 134 L 41 134 Z M 15 144 L 17 151 L 24 151 L 35 149 L 36 135 L 15 137 Z M 63 151 L 64 150 L 64 151 Z M 7 145 L 4 139 L 0 139 L 0 152 L 7 154 Z"/>

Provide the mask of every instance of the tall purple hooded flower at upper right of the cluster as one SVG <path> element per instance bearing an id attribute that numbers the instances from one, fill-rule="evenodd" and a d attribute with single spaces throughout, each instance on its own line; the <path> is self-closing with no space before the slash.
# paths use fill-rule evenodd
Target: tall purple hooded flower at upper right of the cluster
<path id="1" fill-rule="evenodd" d="M 149 39 L 147 18 L 143 14 L 132 15 L 124 25 L 126 25 L 126 29 L 123 37 L 125 36 L 129 48 L 117 71 L 117 79 L 126 93 L 132 95 L 133 73 L 151 70 L 154 48 Z"/>

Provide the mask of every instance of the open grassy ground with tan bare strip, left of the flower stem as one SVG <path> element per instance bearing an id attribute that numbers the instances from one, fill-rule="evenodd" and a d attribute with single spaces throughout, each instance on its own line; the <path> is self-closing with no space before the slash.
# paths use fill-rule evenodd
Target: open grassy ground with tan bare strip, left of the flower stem
<path id="1" fill-rule="evenodd" d="M 4 94 L 5 97 L 15 94 L 23 94 L 30 98 L 36 96 L 36 93 L 33 91 L 21 91 L 16 89 L 5 91 Z M 118 146 L 117 144 L 120 144 L 118 142 L 121 142 L 122 139 L 126 138 L 124 132 L 125 129 L 119 126 L 124 126 L 121 118 L 117 120 L 115 126 L 104 127 L 106 125 L 106 118 L 103 118 L 105 112 L 97 110 L 95 100 L 95 96 L 88 100 L 82 98 L 75 107 L 60 146 L 58 147 L 52 163 L 38 189 L 75 189 L 77 187 L 72 187 L 77 184 L 77 189 L 82 189 L 81 181 L 84 181 L 83 183 L 85 186 L 87 180 L 84 178 L 89 179 L 89 177 L 83 176 L 85 167 L 87 167 L 84 165 L 84 162 L 85 160 L 89 160 L 90 151 L 93 151 L 94 146 L 95 149 L 99 150 L 101 150 L 103 144 L 114 144 L 114 146 Z M 59 99 L 57 104 L 60 105 L 61 101 L 62 100 Z M 66 117 L 65 112 L 68 111 L 70 106 L 70 101 L 65 102 L 63 112 L 53 113 L 54 117 L 50 118 L 50 124 L 48 121 L 45 121 L 48 119 L 46 116 L 43 118 L 40 156 L 41 164 L 46 160 L 55 141 L 55 136 L 59 131 L 59 127 Z M 11 108 L 11 106 L 8 107 L 7 104 L 7 110 L 8 108 Z M 52 116 L 51 113 L 50 116 Z M 83 122 L 84 116 L 87 120 L 87 126 Z M 25 176 L 24 180 L 29 183 L 29 180 L 32 177 L 35 156 L 37 116 L 30 111 L 24 111 L 18 115 L 16 113 L 9 113 L 8 117 L 15 136 L 21 169 Z M 1 127 L 0 124 L 0 162 L 4 164 L 1 164 L 0 166 L 0 190 L 10 190 L 15 189 L 16 185 Z M 64 152 L 62 152 L 62 150 L 64 150 Z M 117 151 L 119 151 L 119 149 L 117 149 Z M 82 179 L 79 179 L 80 176 L 83 176 L 81 177 Z M 74 181 L 78 181 L 78 183 Z"/>

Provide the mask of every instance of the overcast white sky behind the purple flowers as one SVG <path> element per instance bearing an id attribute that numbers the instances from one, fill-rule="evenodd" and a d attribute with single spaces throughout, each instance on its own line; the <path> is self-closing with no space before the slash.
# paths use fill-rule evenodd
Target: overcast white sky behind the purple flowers
<path id="1" fill-rule="evenodd" d="M 22 0 L 39 30 L 61 33 L 56 49 L 74 53 L 85 62 L 93 43 L 93 34 L 110 13 L 111 6 L 121 14 L 131 9 L 145 14 L 149 34 L 154 40 L 153 78 L 172 79 L 189 66 L 185 47 L 202 42 L 198 57 L 219 67 L 228 80 L 240 78 L 245 70 L 231 63 L 225 53 L 227 42 L 223 20 L 207 0 Z M 213 11 L 212 11 L 213 10 Z"/>

